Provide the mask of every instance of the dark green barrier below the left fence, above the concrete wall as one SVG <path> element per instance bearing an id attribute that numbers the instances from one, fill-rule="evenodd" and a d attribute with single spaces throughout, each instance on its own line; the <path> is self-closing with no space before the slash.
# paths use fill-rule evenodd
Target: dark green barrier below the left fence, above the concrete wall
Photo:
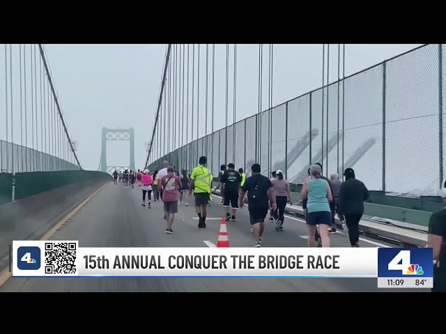
<path id="1" fill-rule="evenodd" d="M 15 200 L 84 181 L 112 180 L 112 176 L 96 170 L 61 170 L 15 174 Z M 0 174 L 0 205 L 12 199 L 13 175 Z"/>

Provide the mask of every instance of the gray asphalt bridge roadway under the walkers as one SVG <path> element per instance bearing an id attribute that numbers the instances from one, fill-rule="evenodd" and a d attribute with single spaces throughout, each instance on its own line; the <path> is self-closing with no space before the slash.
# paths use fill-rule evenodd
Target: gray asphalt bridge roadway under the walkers
<path id="1" fill-rule="evenodd" d="M 217 242 L 220 221 L 208 219 L 206 230 L 197 228 L 193 197 L 180 206 L 174 234 L 165 234 L 162 202 L 141 207 L 141 190 L 109 184 L 94 196 L 72 221 L 54 234 L 54 240 L 79 240 L 81 247 L 203 247 Z M 208 207 L 208 218 L 220 218 L 220 198 Z M 227 223 L 231 247 L 252 246 L 247 210 Z M 287 218 L 284 232 L 267 223 L 263 247 L 305 247 L 305 223 Z M 332 247 L 348 247 L 346 235 L 330 235 Z M 210 241 L 210 242 L 205 242 Z M 363 239 L 362 247 L 376 247 Z M 375 278 L 10 278 L 0 292 L 403 292 L 377 289 Z M 410 291 L 429 291 L 413 289 Z"/>

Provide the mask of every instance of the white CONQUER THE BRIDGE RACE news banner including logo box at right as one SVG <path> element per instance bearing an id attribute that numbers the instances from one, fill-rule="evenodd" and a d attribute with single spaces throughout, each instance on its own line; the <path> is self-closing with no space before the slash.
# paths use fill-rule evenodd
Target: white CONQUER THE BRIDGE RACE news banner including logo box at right
<path id="1" fill-rule="evenodd" d="M 391 262 L 390 257 L 386 253 L 383 261 Z M 78 241 L 13 242 L 13 276 L 22 277 L 377 278 L 381 262 L 378 248 L 90 248 Z M 429 287 L 429 282 L 415 287 Z"/>

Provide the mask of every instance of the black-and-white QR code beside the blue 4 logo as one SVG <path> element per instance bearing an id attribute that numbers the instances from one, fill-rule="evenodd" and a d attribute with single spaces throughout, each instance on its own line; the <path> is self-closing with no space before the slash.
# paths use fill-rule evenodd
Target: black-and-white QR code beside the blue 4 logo
<path id="1" fill-rule="evenodd" d="M 75 242 L 45 242 L 45 274 L 76 274 Z"/>

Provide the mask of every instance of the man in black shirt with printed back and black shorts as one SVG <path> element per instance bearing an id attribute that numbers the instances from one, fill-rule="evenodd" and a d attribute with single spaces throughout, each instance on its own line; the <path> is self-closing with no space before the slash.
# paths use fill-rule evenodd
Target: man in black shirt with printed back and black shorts
<path id="1" fill-rule="evenodd" d="M 220 183 L 223 186 L 223 206 L 226 207 L 226 221 L 236 221 L 236 211 L 238 209 L 238 191 L 242 183 L 242 177 L 234 164 L 229 164 L 228 169 L 224 170 Z M 232 207 L 232 216 L 229 213 L 229 204 Z"/>

